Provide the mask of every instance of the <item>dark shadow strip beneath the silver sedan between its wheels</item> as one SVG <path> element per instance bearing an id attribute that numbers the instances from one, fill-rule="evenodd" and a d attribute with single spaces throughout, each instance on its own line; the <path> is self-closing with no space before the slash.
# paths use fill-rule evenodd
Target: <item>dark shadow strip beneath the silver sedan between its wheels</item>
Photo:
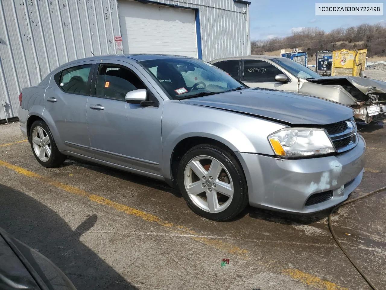
<path id="1" fill-rule="evenodd" d="M 68 166 L 68 165 L 72 165 L 72 164 L 76 164 L 76 166 L 80 166 L 80 167 L 83 167 L 86 169 L 91 169 L 93 171 L 107 174 L 109 176 L 117 177 L 119 179 L 123 179 L 123 180 L 129 181 L 129 182 L 132 182 L 132 183 L 137 183 L 137 184 L 151 187 L 151 188 L 154 188 L 157 190 L 166 191 L 168 193 L 173 194 L 174 196 L 176 196 L 178 198 L 182 197 L 179 190 L 171 188 L 168 184 L 166 184 L 162 181 L 158 181 L 156 179 L 152 179 L 152 178 L 149 178 L 146 176 L 132 174 L 132 173 L 127 172 L 127 171 L 114 169 L 111 167 L 107 167 L 105 165 L 96 164 L 96 163 L 88 162 L 85 160 L 76 159 L 73 157 L 68 157 L 68 159 L 66 161 L 64 161 L 62 166 Z"/>

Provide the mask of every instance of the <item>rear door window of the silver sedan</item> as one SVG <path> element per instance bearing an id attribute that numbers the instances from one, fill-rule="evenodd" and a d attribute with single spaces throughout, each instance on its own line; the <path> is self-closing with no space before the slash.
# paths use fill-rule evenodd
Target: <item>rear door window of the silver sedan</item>
<path id="1" fill-rule="evenodd" d="M 59 78 L 60 88 L 69 94 L 89 95 L 90 87 L 87 85 L 91 64 L 67 68 L 61 72 Z"/>

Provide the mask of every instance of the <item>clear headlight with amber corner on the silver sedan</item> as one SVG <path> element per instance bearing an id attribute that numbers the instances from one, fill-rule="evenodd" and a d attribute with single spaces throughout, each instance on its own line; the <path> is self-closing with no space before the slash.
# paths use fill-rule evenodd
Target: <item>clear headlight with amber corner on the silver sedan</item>
<path id="1" fill-rule="evenodd" d="M 335 152 L 324 129 L 283 128 L 268 136 L 276 155 L 298 157 Z"/>

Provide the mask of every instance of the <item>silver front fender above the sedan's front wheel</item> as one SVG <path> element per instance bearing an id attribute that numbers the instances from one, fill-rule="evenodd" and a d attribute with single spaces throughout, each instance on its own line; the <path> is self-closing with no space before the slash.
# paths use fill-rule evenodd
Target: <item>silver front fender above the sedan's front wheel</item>
<path id="1" fill-rule="evenodd" d="M 191 113 L 192 109 L 195 114 Z M 286 127 L 254 116 L 179 101 L 165 102 L 161 122 L 163 148 L 161 170 L 165 179 L 171 178 L 170 161 L 174 148 L 186 138 L 210 138 L 234 152 L 273 155 L 269 142 L 266 138 L 261 138 L 261 135 L 268 136 Z"/>

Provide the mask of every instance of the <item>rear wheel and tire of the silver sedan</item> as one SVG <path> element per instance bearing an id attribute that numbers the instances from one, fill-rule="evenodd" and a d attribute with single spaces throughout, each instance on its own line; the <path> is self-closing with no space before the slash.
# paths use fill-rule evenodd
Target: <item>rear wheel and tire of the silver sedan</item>
<path id="1" fill-rule="evenodd" d="M 58 167 L 63 164 L 66 155 L 59 152 L 51 130 L 44 121 L 37 120 L 32 123 L 29 134 L 31 149 L 37 162 L 44 167 Z M 41 151 L 42 148 L 44 152 Z"/>

